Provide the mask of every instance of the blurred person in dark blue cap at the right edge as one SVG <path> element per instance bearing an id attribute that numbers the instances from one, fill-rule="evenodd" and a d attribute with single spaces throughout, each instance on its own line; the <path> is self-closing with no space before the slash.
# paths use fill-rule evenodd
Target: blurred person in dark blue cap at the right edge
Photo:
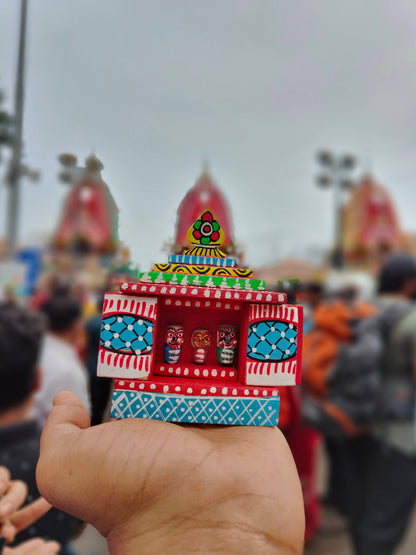
<path id="1" fill-rule="evenodd" d="M 378 306 L 390 320 L 381 365 L 384 404 L 372 428 L 364 473 L 365 495 L 356 501 L 357 555 L 391 555 L 403 538 L 416 499 L 416 261 L 388 258 L 378 279 Z"/>

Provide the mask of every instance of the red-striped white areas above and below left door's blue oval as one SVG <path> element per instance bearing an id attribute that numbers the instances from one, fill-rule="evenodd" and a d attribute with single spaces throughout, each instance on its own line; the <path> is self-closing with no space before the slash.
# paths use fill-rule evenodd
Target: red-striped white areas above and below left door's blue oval
<path id="1" fill-rule="evenodd" d="M 143 316 L 155 323 L 157 318 L 157 302 L 158 299 L 156 297 L 133 297 L 121 293 L 106 293 L 103 316 L 110 314 L 132 314 Z M 100 347 L 97 376 L 145 380 L 151 374 L 153 357 L 154 351 L 148 355 L 125 355 L 112 353 Z"/>

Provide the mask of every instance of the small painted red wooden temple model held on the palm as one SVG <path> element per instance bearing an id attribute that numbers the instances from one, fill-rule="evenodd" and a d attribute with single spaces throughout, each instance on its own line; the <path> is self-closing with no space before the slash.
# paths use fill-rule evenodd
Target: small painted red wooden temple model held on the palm
<path id="1" fill-rule="evenodd" d="M 113 418 L 277 425 L 278 386 L 300 383 L 302 307 L 266 291 L 223 240 L 205 210 L 189 250 L 106 294 L 98 375 L 115 378 Z"/>

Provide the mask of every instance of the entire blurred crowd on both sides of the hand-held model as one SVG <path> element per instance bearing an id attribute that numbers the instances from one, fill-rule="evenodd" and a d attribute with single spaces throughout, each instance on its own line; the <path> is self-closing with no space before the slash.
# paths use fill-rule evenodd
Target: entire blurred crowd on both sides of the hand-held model
<path id="1" fill-rule="evenodd" d="M 392 554 L 416 497 L 416 261 L 387 259 L 372 298 L 348 282 L 337 289 L 300 283 L 287 293 L 304 307 L 303 369 L 301 386 L 280 388 L 279 426 L 301 480 L 305 543 L 348 530 L 357 555 Z M 39 496 L 40 435 L 55 394 L 75 393 L 93 425 L 108 414 L 111 380 L 96 376 L 103 294 L 50 275 L 24 303 L 11 290 L 0 303 L 0 478 L 8 472 L 26 484 L 28 507 Z M 81 523 L 55 508 L 30 525 L 7 519 L 13 488 L 6 482 L 0 479 L 0 536 L 19 535 L 5 552 L 37 553 L 18 550 L 41 538 L 40 554 L 74 554 Z"/>

